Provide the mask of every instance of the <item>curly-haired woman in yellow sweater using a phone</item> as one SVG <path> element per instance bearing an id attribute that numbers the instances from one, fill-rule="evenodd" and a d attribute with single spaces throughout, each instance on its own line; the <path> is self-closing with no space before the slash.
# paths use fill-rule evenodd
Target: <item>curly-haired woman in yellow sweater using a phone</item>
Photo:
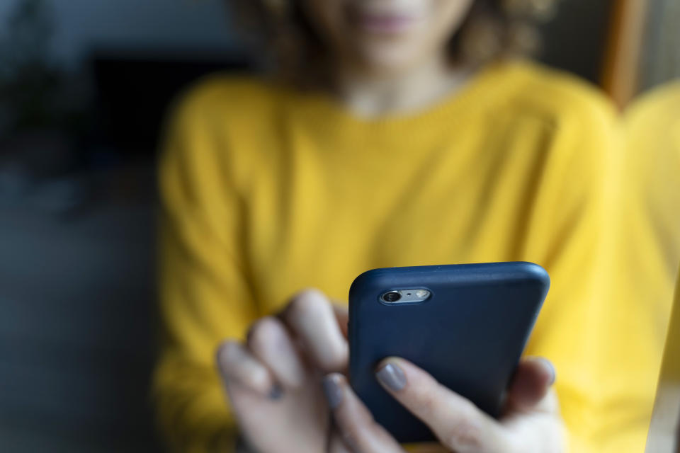
<path id="1" fill-rule="evenodd" d="M 553 362 L 556 394 L 542 359 L 522 362 L 501 420 L 404 360 L 377 378 L 458 452 L 640 450 L 660 345 L 635 337 L 644 308 L 618 310 L 610 290 L 613 112 L 581 81 L 505 57 L 502 5 L 521 2 L 239 3 L 278 78 L 204 81 L 161 166 L 155 389 L 175 445 L 233 447 L 235 419 L 258 452 L 399 451 L 337 374 L 345 315 L 330 300 L 370 268 L 530 260 L 553 287 L 527 353 Z"/>

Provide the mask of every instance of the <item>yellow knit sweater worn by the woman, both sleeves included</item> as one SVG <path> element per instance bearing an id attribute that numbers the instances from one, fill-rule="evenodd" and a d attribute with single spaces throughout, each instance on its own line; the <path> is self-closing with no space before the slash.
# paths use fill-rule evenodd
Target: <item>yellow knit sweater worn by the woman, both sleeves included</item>
<path id="1" fill-rule="evenodd" d="M 370 268 L 530 260 L 553 286 L 526 352 L 557 367 L 570 451 L 641 452 L 661 345 L 610 259 L 615 124 L 599 93 L 524 62 L 380 120 L 258 79 L 205 81 L 176 109 L 160 168 L 167 435 L 226 445 L 215 347 L 298 289 L 346 300 Z"/>

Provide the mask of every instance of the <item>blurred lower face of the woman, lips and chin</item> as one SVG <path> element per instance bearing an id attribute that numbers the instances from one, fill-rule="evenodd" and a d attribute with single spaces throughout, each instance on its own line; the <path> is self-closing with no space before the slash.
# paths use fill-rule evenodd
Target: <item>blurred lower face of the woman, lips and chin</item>
<path id="1" fill-rule="evenodd" d="M 341 62 L 390 74 L 438 57 L 474 0 L 302 0 Z"/>

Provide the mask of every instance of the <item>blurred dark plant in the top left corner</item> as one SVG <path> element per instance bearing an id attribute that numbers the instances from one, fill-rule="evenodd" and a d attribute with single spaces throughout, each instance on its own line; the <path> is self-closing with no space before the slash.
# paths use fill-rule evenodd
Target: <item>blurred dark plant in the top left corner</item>
<path id="1" fill-rule="evenodd" d="M 50 62 L 53 26 L 45 0 L 21 0 L 0 35 L 0 138 L 65 127 L 64 76 Z"/>

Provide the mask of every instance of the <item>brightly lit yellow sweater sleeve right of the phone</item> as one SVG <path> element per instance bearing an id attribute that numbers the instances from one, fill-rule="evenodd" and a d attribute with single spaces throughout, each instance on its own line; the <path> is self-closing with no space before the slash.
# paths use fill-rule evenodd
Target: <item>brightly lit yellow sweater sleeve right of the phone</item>
<path id="1" fill-rule="evenodd" d="M 621 251 L 638 238 L 621 228 L 621 132 L 604 109 L 570 121 L 558 125 L 529 220 L 530 236 L 550 239 L 530 237 L 526 257 L 553 285 L 527 352 L 556 366 L 568 451 L 642 452 L 662 344 L 649 282 L 625 275 Z"/>

